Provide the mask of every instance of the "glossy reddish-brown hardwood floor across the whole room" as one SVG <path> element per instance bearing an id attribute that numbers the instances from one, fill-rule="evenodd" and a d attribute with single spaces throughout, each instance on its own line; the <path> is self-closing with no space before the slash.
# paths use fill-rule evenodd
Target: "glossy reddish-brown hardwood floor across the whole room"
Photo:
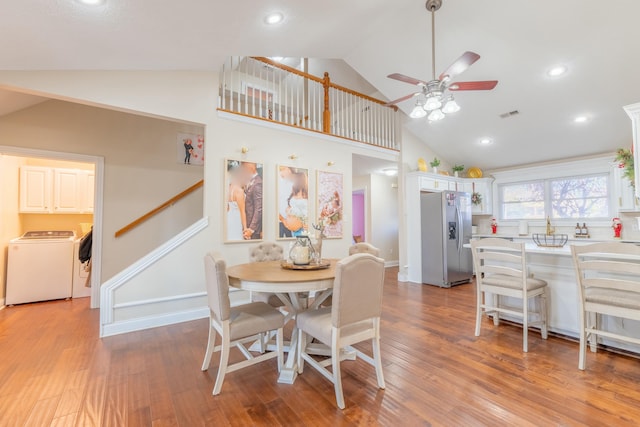
<path id="1" fill-rule="evenodd" d="M 640 423 L 640 361 L 600 351 L 577 368 L 578 344 L 485 319 L 474 331 L 474 285 L 440 289 L 387 271 L 382 320 L 386 390 L 345 361 L 346 409 L 307 367 L 276 383 L 275 360 L 228 374 L 211 391 L 217 353 L 200 365 L 207 320 L 104 339 L 88 299 L 0 311 L 2 426 L 625 426 Z M 234 357 L 238 358 L 236 354 Z"/>

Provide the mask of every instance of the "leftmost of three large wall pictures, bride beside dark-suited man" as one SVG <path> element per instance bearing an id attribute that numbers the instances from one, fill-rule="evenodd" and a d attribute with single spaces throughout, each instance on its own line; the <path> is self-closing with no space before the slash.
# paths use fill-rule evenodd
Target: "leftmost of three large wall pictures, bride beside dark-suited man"
<path id="1" fill-rule="evenodd" d="M 224 174 L 225 241 L 262 240 L 262 163 L 227 159 Z"/>

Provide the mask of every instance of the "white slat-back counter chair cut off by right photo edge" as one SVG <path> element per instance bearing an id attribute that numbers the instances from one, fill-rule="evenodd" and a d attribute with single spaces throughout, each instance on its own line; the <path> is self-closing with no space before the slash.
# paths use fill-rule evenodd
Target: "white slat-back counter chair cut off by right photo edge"
<path id="1" fill-rule="evenodd" d="M 578 278 L 580 354 L 585 369 L 587 343 L 597 349 L 598 337 L 640 344 L 640 337 L 605 328 L 602 315 L 640 320 L 640 247 L 632 243 L 571 245 Z"/>

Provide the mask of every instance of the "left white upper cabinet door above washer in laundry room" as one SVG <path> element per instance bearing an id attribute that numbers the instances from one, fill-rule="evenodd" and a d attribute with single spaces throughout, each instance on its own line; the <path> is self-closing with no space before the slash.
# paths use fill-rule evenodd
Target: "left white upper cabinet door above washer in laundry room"
<path id="1" fill-rule="evenodd" d="M 51 212 L 51 168 L 20 168 L 20 212 Z"/>

